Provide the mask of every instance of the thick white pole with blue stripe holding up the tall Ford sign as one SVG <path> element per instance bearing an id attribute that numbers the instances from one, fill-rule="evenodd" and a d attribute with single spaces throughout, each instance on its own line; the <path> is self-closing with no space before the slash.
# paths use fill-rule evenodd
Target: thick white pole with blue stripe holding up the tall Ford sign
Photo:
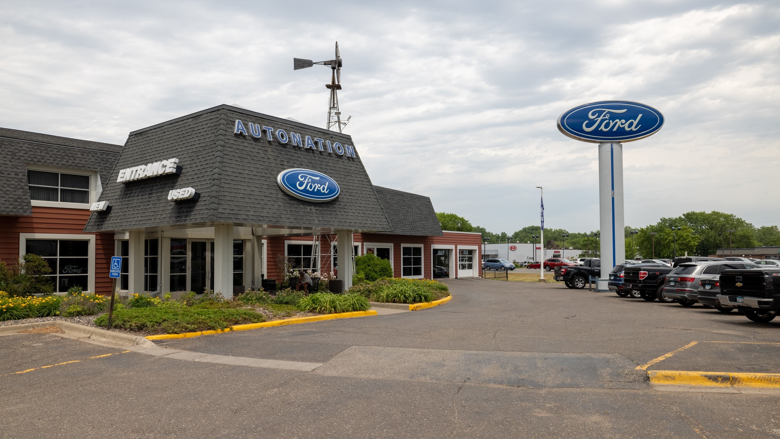
<path id="1" fill-rule="evenodd" d="M 597 289 L 608 291 L 609 272 L 626 260 L 626 221 L 623 217 L 623 146 L 598 145 L 598 198 L 601 216 L 601 276 Z"/>

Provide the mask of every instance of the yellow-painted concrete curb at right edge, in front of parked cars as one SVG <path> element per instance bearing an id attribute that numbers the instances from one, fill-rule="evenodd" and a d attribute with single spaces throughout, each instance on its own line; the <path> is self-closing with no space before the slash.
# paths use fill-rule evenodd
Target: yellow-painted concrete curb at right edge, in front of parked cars
<path id="1" fill-rule="evenodd" d="M 780 374 L 650 370 L 650 383 L 658 390 L 727 391 L 749 393 L 780 391 Z"/>

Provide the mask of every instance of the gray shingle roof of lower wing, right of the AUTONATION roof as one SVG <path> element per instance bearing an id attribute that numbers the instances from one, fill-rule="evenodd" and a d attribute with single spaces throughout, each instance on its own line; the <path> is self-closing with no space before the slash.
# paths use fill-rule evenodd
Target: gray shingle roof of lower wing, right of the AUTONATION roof
<path id="1" fill-rule="evenodd" d="M 374 186 L 392 235 L 441 236 L 434 205 L 427 196 Z"/>

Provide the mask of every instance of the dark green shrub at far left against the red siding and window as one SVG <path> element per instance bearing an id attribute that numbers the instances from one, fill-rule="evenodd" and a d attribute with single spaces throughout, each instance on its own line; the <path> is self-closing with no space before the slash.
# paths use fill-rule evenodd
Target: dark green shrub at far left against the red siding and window
<path id="1" fill-rule="evenodd" d="M 11 265 L 0 260 L 0 291 L 9 296 L 50 295 L 54 293 L 54 284 L 46 277 L 49 273 L 51 267 L 36 254 L 27 253 Z"/>

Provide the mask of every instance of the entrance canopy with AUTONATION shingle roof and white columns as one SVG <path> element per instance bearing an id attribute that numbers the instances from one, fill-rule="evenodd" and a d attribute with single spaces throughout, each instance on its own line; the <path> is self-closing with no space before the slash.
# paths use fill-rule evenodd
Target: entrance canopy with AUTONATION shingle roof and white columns
<path id="1" fill-rule="evenodd" d="M 291 195 L 278 179 L 298 168 L 327 183 L 310 185 L 320 193 L 339 193 L 324 202 Z M 84 231 L 127 240 L 129 292 L 213 284 L 229 296 L 234 281 L 260 286 L 261 271 L 246 275 L 257 260 L 246 260 L 261 259 L 266 237 L 334 234 L 349 254 L 353 232 L 391 231 L 349 136 L 230 105 L 130 133 L 100 201 L 108 206 Z M 151 273 L 151 257 L 161 273 Z M 349 286 L 349 264 L 339 278 Z"/>

